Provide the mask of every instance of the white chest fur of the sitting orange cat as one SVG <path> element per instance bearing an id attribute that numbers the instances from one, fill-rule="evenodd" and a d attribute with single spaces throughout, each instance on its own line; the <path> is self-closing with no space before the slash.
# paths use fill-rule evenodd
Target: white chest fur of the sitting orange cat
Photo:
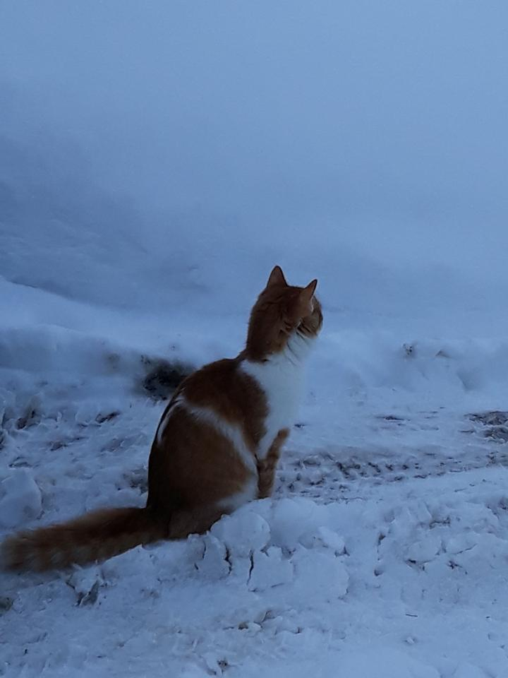
<path id="1" fill-rule="evenodd" d="M 305 359 L 312 344 L 299 335 L 294 335 L 286 349 L 270 356 L 265 362 L 245 360 L 242 369 L 258 382 L 265 393 L 268 415 L 266 433 L 258 446 L 257 456 L 264 459 L 281 429 L 291 428 L 298 415 L 305 376 Z"/>

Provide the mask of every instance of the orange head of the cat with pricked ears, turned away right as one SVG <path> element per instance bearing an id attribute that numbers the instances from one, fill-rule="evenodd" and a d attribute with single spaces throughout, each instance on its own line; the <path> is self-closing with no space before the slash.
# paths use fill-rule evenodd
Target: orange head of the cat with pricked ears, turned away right
<path id="1" fill-rule="evenodd" d="M 288 285 L 275 266 L 250 313 L 247 335 L 249 357 L 265 359 L 295 342 L 310 343 L 322 326 L 321 304 L 315 297 L 317 280 L 306 287 Z"/>

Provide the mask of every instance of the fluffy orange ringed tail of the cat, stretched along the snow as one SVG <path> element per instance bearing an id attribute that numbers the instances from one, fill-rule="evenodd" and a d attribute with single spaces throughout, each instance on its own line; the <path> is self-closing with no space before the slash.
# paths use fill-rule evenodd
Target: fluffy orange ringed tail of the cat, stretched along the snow
<path id="1" fill-rule="evenodd" d="M 44 571 L 102 561 L 168 536 L 150 509 L 102 509 L 67 523 L 17 533 L 0 545 L 0 566 Z"/>

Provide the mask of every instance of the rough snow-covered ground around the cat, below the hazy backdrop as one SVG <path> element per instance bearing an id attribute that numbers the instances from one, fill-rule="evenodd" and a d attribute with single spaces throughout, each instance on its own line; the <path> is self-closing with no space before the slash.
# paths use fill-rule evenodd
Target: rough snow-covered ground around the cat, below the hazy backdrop
<path id="1" fill-rule="evenodd" d="M 10 290 L 4 299 L 25 295 L 31 314 L 66 304 L 79 316 L 78 302 Z M 198 364 L 240 346 L 245 317 L 202 319 L 188 305 L 165 351 L 149 321 L 145 350 L 139 328 L 129 346 L 107 324 L 99 338 L 4 322 L 2 534 L 143 504 L 164 407 L 143 391 L 146 356 Z M 98 322 L 104 309 L 88 313 Z M 507 674 L 508 413 L 483 413 L 508 409 L 508 342 L 404 342 L 334 331 L 338 316 L 310 364 L 274 499 L 205 537 L 73 573 L 2 575 L 4 674 Z"/>

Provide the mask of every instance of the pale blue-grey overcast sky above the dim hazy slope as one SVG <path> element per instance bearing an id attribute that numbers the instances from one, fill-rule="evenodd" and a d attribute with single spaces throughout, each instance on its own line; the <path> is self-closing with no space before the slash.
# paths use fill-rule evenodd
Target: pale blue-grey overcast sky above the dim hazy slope
<path id="1" fill-rule="evenodd" d="M 4 141 L 38 148 L 41 181 L 128 196 L 152 244 L 502 275 L 507 74 L 505 0 L 0 5 Z"/>

